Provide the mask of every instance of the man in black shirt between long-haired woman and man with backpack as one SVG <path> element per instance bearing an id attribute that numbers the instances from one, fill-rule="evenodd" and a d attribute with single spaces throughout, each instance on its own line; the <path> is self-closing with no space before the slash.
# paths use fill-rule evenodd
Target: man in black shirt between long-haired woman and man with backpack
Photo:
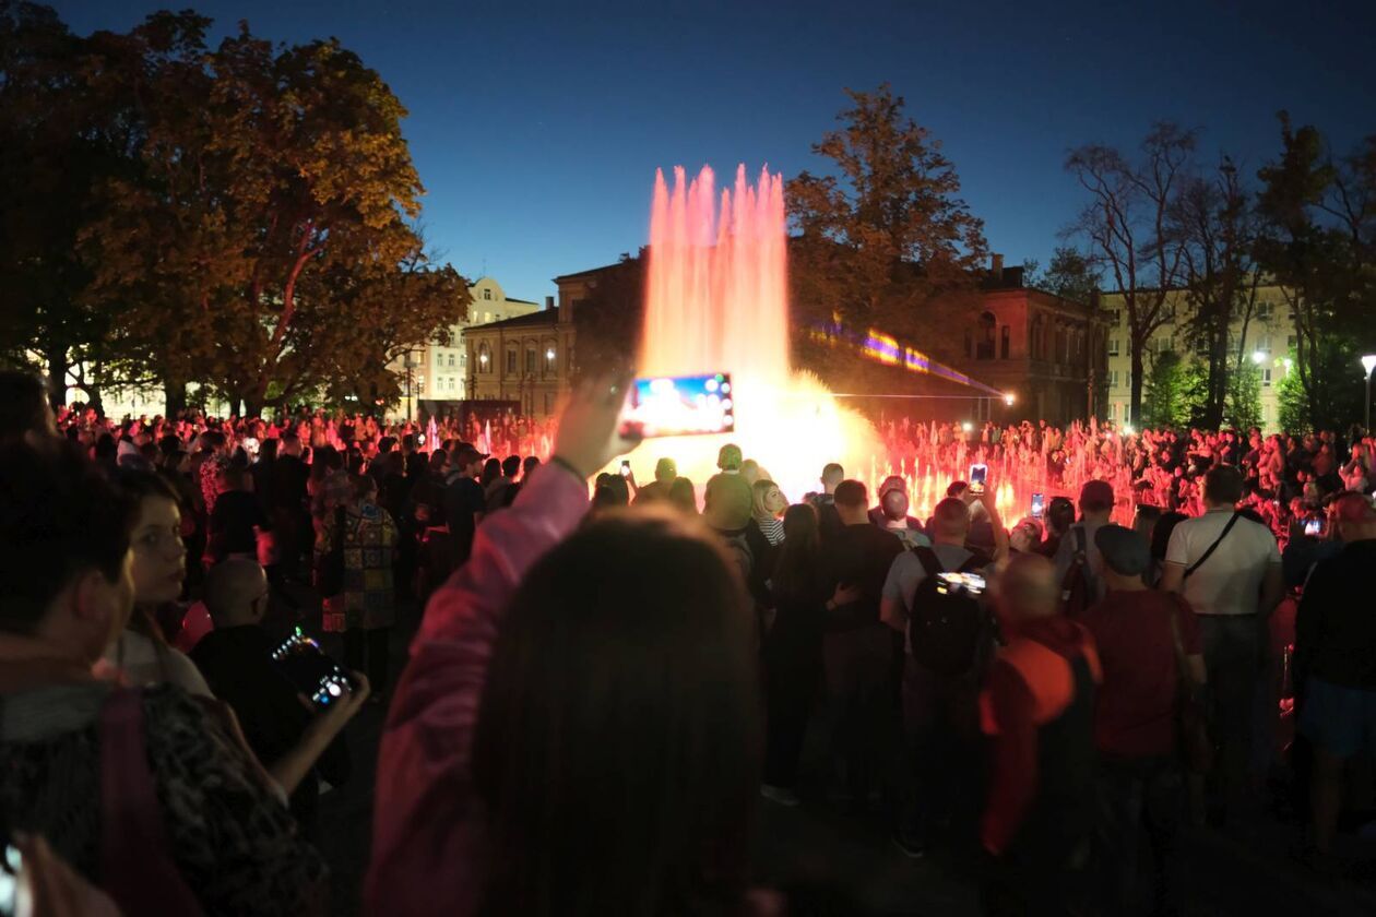
<path id="1" fill-rule="evenodd" d="M 823 538 L 830 561 L 830 580 L 859 591 L 841 608 L 828 609 L 823 661 L 837 726 L 834 749 L 842 762 L 843 788 L 864 803 L 882 773 L 883 742 L 894 714 L 896 637 L 879 623 L 879 598 L 893 558 L 903 543 L 870 522 L 864 484 L 842 481 L 835 491 L 835 510 L 842 528 Z"/>

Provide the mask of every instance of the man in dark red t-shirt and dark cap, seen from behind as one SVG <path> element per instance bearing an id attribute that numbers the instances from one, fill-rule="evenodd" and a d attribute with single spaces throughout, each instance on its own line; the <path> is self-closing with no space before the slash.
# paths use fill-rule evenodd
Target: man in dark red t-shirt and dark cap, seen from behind
<path id="1" fill-rule="evenodd" d="M 1183 660 L 1190 683 L 1203 683 L 1200 627 L 1183 598 L 1146 588 L 1142 575 L 1152 562 L 1146 538 L 1105 525 L 1094 543 L 1108 587 L 1083 619 L 1104 670 L 1094 716 L 1101 905 L 1105 913 L 1131 913 L 1146 898 L 1137 891 L 1138 837 L 1145 828 L 1153 861 L 1150 913 L 1172 913 L 1179 907 L 1176 836 L 1183 803 L 1179 670 Z"/>

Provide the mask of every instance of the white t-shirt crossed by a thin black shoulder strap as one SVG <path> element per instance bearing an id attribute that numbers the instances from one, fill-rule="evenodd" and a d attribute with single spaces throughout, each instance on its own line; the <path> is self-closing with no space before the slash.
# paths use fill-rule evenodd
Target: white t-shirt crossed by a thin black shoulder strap
<path id="1" fill-rule="evenodd" d="M 1165 547 L 1165 562 L 1189 569 L 1218 540 L 1230 518 L 1233 510 L 1218 509 L 1176 525 Z M 1280 562 L 1281 551 L 1271 531 L 1240 518 L 1210 558 L 1185 580 L 1182 594 L 1196 615 L 1255 615 L 1266 565 Z"/>

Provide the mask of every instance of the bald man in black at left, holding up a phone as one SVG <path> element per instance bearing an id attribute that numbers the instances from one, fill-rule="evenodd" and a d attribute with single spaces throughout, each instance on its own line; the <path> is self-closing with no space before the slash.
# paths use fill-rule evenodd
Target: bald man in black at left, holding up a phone
<path id="1" fill-rule="evenodd" d="M 201 638 L 191 659 L 215 696 L 234 708 L 249 748 L 288 792 L 292 814 L 311 837 L 319 777 L 330 784 L 348 780 L 348 748 L 336 738 L 366 698 L 366 682 L 345 703 L 312 715 L 296 685 L 272 661 L 277 645 L 261 626 L 268 608 L 267 575 L 255 561 L 212 566 L 205 606 L 215 630 Z"/>

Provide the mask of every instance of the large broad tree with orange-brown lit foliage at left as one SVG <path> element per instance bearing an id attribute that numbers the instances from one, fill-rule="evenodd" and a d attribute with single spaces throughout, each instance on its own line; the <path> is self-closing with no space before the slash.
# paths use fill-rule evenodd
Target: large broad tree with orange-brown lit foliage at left
<path id="1" fill-rule="evenodd" d="M 106 183 L 84 234 L 121 351 L 256 412 L 270 392 L 337 382 L 341 364 L 383 373 L 394 334 L 420 344 L 462 315 L 466 286 L 424 269 L 406 110 L 381 77 L 337 41 L 274 48 L 246 25 L 215 51 L 191 32 L 164 48 L 166 15 L 102 70 L 144 121 L 136 170 Z"/>

